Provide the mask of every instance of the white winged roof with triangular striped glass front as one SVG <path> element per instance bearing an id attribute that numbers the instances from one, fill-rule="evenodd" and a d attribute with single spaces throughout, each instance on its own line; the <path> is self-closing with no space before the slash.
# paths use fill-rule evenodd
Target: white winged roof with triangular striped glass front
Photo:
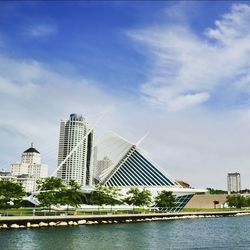
<path id="1" fill-rule="evenodd" d="M 180 187 L 135 144 L 110 132 L 97 147 L 95 178 L 107 186 Z"/>

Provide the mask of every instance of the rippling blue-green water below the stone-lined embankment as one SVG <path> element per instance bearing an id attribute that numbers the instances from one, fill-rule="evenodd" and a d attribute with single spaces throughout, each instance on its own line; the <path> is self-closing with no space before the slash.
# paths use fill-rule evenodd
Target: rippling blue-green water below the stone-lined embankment
<path id="1" fill-rule="evenodd" d="M 0 249 L 250 249 L 250 217 L 1 230 Z"/>

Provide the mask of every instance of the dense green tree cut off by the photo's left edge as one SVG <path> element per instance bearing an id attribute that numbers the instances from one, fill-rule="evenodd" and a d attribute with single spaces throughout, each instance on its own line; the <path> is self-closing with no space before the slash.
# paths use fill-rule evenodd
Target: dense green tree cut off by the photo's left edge
<path id="1" fill-rule="evenodd" d="M 24 195 L 22 184 L 0 180 L 0 208 L 19 207 Z"/>

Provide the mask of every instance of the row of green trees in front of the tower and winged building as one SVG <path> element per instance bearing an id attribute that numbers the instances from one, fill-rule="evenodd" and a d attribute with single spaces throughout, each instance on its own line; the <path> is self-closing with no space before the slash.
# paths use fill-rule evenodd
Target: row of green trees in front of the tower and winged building
<path id="1" fill-rule="evenodd" d="M 152 203 L 156 207 L 175 207 L 175 197 L 172 192 L 162 191 L 155 199 L 147 189 L 131 188 L 126 198 L 122 198 L 119 189 L 97 185 L 89 194 L 81 193 L 80 186 L 73 180 L 66 186 L 61 179 L 50 177 L 39 183 L 41 192 L 36 196 L 42 206 L 67 205 L 77 207 L 80 204 L 88 205 L 120 205 L 128 204 L 138 207 L 149 206 Z"/>

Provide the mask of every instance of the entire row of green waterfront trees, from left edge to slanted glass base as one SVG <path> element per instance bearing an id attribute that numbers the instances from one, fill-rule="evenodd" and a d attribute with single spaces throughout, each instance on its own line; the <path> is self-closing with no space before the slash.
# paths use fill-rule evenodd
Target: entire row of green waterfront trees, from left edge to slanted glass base
<path id="1" fill-rule="evenodd" d="M 138 207 L 154 205 L 156 207 L 175 207 L 175 197 L 172 192 L 162 191 L 154 199 L 146 189 L 131 188 L 125 198 L 116 187 L 97 185 L 89 194 L 82 193 L 80 186 L 71 180 L 68 185 L 56 177 L 46 178 L 38 182 L 39 194 L 35 197 L 43 207 L 66 205 L 78 207 L 89 205 L 119 205 L 128 204 Z M 0 180 L 0 208 L 19 207 L 25 196 L 22 185 L 9 180 Z"/>

